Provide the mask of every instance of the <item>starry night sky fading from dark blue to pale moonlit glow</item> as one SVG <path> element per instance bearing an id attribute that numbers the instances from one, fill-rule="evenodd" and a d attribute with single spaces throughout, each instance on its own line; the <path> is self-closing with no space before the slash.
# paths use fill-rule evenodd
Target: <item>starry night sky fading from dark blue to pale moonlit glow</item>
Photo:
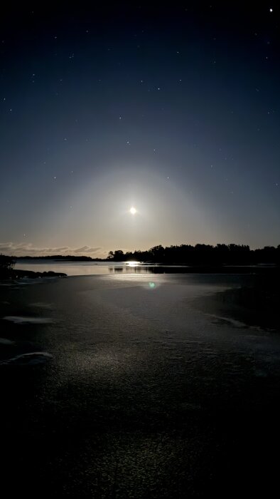
<path id="1" fill-rule="evenodd" d="M 279 245 L 279 6 L 84 5 L 1 14 L 0 252 Z"/>

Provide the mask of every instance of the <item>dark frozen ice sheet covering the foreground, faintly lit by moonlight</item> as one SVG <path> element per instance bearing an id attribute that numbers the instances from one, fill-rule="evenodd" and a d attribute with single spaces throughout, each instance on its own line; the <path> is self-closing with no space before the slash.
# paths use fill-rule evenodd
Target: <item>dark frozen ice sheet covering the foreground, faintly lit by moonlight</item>
<path id="1" fill-rule="evenodd" d="M 270 497 L 279 314 L 275 282 L 258 279 L 128 274 L 0 288 L 6 497 Z"/>

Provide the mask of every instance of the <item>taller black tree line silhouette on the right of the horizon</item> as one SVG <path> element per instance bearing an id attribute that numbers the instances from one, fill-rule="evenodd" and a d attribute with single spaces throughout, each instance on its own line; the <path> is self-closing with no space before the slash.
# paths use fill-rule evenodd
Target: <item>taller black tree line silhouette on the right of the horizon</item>
<path id="1" fill-rule="evenodd" d="M 179 245 L 154 246 L 147 251 L 124 253 L 122 249 L 110 251 L 108 259 L 114 262 L 136 260 L 139 262 L 187 265 L 250 265 L 280 264 L 280 245 L 250 249 L 247 245 Z"/>

